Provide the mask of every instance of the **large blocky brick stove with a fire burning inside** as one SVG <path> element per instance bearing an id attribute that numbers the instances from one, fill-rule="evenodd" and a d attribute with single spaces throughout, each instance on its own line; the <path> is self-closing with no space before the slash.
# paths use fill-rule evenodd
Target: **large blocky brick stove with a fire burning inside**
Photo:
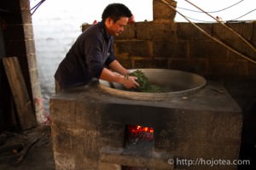
<path id="1" fill-rule="evenodd" d="M 56 170 L 236 169 L 168 161 L 238 159 L 241 110 L 221 83 L 141 99 L 101 87 L 92 83 L 50 99 Z"/>

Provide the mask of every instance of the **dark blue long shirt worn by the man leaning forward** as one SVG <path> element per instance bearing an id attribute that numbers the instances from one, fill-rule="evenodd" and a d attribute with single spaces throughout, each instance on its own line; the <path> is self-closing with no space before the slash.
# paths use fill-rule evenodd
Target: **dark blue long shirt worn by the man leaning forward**
<path id="1" fill-rule="evenodd" d="M 77 38 L 55 72 L 55 80 L 61 88 L 84 85 L 93 77 L 99 78 L 113 60 L 113 36 L 99 22 Z"/>

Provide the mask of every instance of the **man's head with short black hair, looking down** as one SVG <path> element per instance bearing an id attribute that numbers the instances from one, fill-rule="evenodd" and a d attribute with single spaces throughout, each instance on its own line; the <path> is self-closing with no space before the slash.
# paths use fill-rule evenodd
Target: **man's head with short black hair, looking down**
<path id="1" fill-rule="evenodd" d="M 108 34 L 119 36 L 124 31 L 132 14 L 129 8 L 122 3 L 109 4 L 102 13 L 102 22 L 105 24 Z"/>

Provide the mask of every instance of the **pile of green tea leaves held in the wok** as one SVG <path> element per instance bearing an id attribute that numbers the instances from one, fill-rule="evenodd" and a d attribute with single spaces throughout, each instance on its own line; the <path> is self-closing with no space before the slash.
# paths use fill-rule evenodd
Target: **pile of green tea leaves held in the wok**
<path id="1" fill-rule="evenodd" d="M 140 85 L 138 88 L 132 88 L 132 91 L 144 92 L 144 93 L 164 93 L 166 90 L 156 84 L 151 84 L 148 77 L 145 76 L 143 71 L 137 70 L 129 74 L 129 76 L 137 77 L 136 82 Z"/>

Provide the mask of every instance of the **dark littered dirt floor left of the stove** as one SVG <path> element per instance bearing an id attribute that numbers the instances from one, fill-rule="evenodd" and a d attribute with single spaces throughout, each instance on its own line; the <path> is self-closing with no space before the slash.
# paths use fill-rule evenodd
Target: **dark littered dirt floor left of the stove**
<path id="1" fill-rule="evenodd" d="M 0 133 L 0 169 L 54 170 L 50 127 Z"/>

